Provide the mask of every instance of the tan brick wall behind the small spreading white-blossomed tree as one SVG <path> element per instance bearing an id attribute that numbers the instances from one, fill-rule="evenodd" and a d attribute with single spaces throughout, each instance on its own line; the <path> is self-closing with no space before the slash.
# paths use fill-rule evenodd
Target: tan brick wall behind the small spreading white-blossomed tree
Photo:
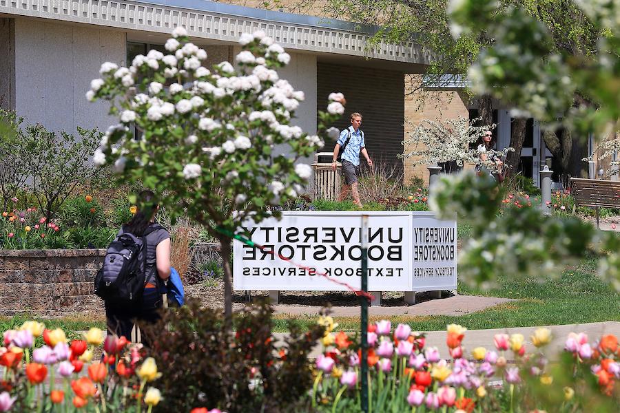
<path id="1" fill-rule="evenodd" d="M 411 80 L 405 88 L 404 98 L 404 134 L 405 139 L 409 138 L 409 132 L 413 131 L 420 121 L 428 120 L 447 120 L 459 116 L 468 118 L 468 103 L 466 99 L 457 91 L 433 91 L 428 92 L 419 90 L 411 93 Z M 418 148 L 418 150 L 421 148 Z M 404 147 L 404 153 L 413 150 L 411 145 Z M 428 184 L 428 169 L 426 165 L 413 166 L 414 158 L 404 160 L 404 179 L 409 183 L 411 178 L 419 177 Z"/>

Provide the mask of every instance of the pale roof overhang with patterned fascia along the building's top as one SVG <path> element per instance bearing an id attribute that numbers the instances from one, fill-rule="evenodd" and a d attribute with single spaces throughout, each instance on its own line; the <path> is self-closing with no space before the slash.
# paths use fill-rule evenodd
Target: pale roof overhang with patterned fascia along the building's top
<path id="1" fill-rule="evenodd" d="M 404 72 L 408 65 L 417 72 L 431 61 L 415 41 L 369 47 L 376 27 L 206 0 L 5 0 L 0 14 L 152 34 L 183 25 L 192 38 L 224 44 L 236 43 L 243 32 L 263 30 L 291 51 L 397 62 Z"/>

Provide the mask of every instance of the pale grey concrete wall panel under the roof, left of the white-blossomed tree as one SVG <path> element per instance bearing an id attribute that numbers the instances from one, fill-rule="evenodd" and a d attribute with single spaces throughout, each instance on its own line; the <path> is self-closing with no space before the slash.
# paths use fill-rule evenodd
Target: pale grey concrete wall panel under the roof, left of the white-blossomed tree
<path id="1" fill-rule="evenodd" d="M 109 105 L 85 93 L 105 61 L 124 65 L 125 33 L 95 27 L 15 19 L 15 109 L 30 123 L 76 134 L 107 129 Z"/>

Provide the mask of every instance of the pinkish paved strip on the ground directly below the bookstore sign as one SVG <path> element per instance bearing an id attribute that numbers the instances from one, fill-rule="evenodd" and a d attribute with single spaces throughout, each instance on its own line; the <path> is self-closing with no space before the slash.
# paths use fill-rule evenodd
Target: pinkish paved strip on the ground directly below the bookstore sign
<path id="1" fill-rule="evenodd" d="M 454 295 L 442 299 L 430 299 L 413 306 L 372 306 L 369 315 L 464 315 L 482 311 L 485 308 L 514 301 L 510 298 L 477 297 L 475 295 Z M 322 307 L 318 306 L 290 306 L 278 304 L 273 306 L 276 314 L 316 316 Z M 359 306 L 338 306 L 331 308 L 333 317 L 359 317 Z"/>

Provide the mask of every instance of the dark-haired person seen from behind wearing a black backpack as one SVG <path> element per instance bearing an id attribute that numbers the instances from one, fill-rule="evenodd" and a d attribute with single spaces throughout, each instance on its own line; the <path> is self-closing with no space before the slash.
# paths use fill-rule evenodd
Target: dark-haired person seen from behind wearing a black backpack
<path id="1" fill-rule="evenodd" d="M 169 279 L 170 234 L 155 223 L 159 205 L 152 191 L 139 195 L 143 209 L 118 231 L 95 279 L 95 293 L 105 302 L 108 333 L 136 341 L 134 322 L 154 323 L 163 306 Z"/>

